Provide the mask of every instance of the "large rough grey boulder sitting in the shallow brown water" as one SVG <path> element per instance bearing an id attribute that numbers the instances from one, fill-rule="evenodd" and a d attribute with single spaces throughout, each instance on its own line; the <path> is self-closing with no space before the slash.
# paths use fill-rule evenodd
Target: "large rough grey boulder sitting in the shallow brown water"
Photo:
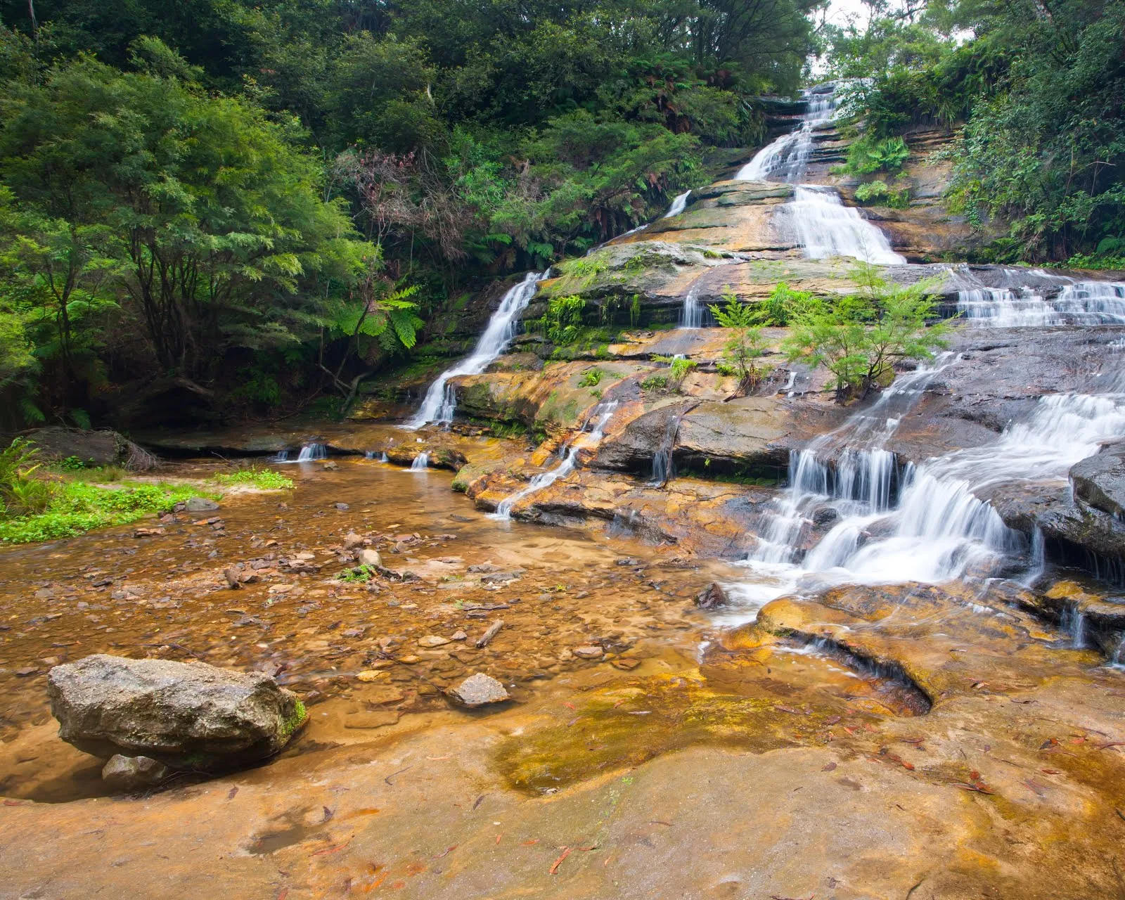
<path id="1" fill-rule="evenodd" d="M 58 737 L 80 750 L 206 772 L 272 756 L 307 718 L 268 675 L 206 663 L 96 654 L 51 669 L 47 693 Z"/>

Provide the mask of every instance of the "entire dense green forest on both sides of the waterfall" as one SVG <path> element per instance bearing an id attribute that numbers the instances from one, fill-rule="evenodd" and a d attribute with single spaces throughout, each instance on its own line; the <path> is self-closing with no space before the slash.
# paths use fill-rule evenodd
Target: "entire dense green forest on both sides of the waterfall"
<path id="1" fill-rule="evenodd" d="M 982 258 L 1125 268 L 1125 0 L 824 7 L 6 0 L 0 428 L 339 412 L 465 290 L 654 217 L 826 78 L 854 156 L 957 134 Z"/>

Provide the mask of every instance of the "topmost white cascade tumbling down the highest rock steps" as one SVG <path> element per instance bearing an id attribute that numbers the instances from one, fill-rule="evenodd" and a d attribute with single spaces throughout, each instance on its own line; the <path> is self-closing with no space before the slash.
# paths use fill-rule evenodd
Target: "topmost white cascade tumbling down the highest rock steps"
<path id="1" fill-rule="evenodd" d="M 801 126 L 758 151 L 735 176 L 739 181 L 784 181 L 798 186 L 793 199 L 777 210 L 782 234 L 803 248 L 810 259 L 852 256 L 879 266 L 901 266 L 906 259 L 858 209 L 844 206 L 835 188 L 804 183 L 804 170 L 818 128 L 836 114 L 835 91 L 807 92 L 809 109 Z"/>

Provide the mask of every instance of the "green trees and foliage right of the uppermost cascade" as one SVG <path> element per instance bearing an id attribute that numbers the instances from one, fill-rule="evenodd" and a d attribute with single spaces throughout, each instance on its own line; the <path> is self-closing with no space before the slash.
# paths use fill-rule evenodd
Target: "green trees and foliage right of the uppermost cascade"
<path id="1" fill-rule="evenodd" d="M 944 154 L 952 208 L 1007 232 L 982 258 L 1065 260 L 1114 255 L 1098 246 L 1125 234 L 1123 33 L 1123 0 L 933 0 L 920 16 L 838 32 L 829 57 L 834 74 L 863 76 L 846 109 L 871 140 L 963 125 Z"/>

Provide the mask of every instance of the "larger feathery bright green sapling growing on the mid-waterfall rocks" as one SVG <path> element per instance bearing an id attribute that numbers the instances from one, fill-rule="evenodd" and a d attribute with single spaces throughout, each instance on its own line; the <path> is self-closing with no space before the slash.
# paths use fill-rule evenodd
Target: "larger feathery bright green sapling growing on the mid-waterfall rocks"
<path id="1" fill-rule="evenodd" d="M 861 263 L 852 270 L 852 281 L 854 294 L 800 312 L 783 344 L 790 361 L 824 363 L 842 404 L 884 385 L 901 360 L 929 359 L 934 348 L 945 346 L 948 330 L 943 322 L 926 325 L 934 315 L 934 280 L 903 287 Z"/>

